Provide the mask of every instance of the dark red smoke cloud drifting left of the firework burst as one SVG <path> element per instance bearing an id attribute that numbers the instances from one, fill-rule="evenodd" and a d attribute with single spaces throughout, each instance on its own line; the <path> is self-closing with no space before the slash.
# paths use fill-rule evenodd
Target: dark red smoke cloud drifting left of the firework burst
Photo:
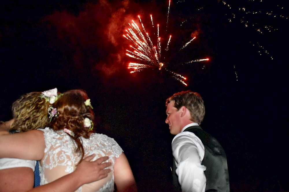
<path id="1" fill-rule="evenodd" d="M 66 10 L 54 12 L 45 18 L 49 22 L 48 33 L 55 34 L 57 39 L 55 43 L 55 38 L 50 37 L 50 43 L 71 56 L 68 60 L 76 67 L 90 67 L 112 75 L 127 64 L 123 51 L 126 40 L 122 35 L 133 19 L 127 11 L 131 6 L 136 4 L 128 0 L 114 4 L 102 0 L 84 5 L 78 15 Z"/>

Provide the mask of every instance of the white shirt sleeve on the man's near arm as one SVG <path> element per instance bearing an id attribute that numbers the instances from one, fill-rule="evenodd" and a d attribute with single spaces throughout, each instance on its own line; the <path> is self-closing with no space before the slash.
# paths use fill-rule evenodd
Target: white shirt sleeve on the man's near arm
<path id="1" fill-rule="evenodd" d="M 172 150 L 181 190 L 205 192 L 206 167 L 201 165 L 205 148 L 201 140 L 192 132 L 181 132 L 173 139 Z"/>

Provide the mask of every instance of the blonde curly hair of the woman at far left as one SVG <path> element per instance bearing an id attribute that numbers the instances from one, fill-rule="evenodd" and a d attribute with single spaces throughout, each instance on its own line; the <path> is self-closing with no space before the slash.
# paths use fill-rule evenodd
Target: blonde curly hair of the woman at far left
<path id="1" fill-rule="evenodd" d="M 10 129 L 25 132 L 48 126 L 49 102 L 40 98 L 41 92 L 22 95 L 12 104 L 14 122 Z"/>

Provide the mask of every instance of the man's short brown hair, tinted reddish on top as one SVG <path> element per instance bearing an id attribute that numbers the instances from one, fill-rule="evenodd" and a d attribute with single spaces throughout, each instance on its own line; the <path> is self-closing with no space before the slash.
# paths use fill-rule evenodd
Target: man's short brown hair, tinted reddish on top
<path id="1" fill-rule="evenodd" d="M 201 95 L 197 92 L 181 91 L 173 94 L 173 96 L 167 98 L 166 107 L 171 101 L 175 101 L 174 107 L 179 110 L 182 106 L 185 106 L 191 114 L 191 121 L 202 123 L 205 116 L 205 105 Z"/>

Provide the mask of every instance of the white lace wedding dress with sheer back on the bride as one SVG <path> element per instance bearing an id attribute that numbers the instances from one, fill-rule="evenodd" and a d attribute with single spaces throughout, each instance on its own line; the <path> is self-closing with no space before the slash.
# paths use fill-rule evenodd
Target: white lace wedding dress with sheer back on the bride
<path id="1" fill-rule="evenodd" d="M 39 129 L 44 132 L 45 136 L 45 156 L 41 162 L 40 167 L 40 185 L 51 183 L 52 181 L 71 173 L 75 170 L 75 166 L 79 162 L 79 155 L 75 153 L 77 148 L 74 140 L 70 138 L 63 130 L 54 131 L 50 128 Z M 81 137 L 84 148 L 84 157 L 96 154 L 93 160 L 99 157 L 109 156 L 112 170 L 108 177 L 99 181 L 85 184 L 77 191 L 92 192 L 92 191 L 114 191 L 114 174 L 113 166 L 116 158 L 121 155 L 123 150 L 117 142 L 106 135 L 93 133 L 89 139 Z"/>

